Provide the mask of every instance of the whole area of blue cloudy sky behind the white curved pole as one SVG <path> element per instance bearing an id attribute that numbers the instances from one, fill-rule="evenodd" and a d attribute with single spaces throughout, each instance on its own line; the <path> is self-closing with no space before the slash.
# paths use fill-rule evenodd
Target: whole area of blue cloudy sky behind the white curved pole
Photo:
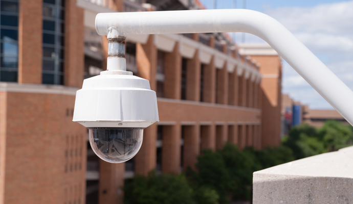
<path id="1" fill-rule="evenodd" d="M 214 0 L 200 0 L 214 8 Z M 243 0 L 218 0 L 217 9 L 244 8 Z M 247 0 L 246 9 L 272 16 L 289 29 L 353 90 L 353 1 Z M 237 43 L 265 43 L 251 34 L 233 34 Z M 318 73 L 318 77 L 319 77 Z M 333 109 L 283 60 L 282 93 L 311 109 Z M 352 101 L 353 103 L 353 101 Z"/>

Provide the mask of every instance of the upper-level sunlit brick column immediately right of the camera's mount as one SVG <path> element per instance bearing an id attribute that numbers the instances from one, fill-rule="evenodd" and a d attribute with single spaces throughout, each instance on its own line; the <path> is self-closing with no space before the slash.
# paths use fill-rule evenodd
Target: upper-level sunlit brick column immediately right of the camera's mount
<path id="1" fill-rule="evenodd" d="M 149 35 L 146 44 L 136 43 L 136 62 L 139 77 L 148 80 L 151 89 L 156 90 L 157 47 L 153 38 L 153 35 Z"/>

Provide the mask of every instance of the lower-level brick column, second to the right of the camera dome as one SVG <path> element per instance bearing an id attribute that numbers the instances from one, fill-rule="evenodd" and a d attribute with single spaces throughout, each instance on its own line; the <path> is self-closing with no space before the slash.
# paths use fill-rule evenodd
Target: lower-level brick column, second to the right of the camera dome
<path id="1" fill-rule="evenodd" d="M 162 171 L 180 173 L 181 125 L 163 126 Z"/>

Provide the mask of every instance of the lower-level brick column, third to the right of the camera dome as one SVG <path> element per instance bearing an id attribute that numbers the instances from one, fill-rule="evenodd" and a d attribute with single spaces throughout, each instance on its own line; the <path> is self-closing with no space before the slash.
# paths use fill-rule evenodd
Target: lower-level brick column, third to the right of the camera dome
<path id="1" fill-rule="evenodd" d="M 184 170 L 195 167 L 200 154 L 200 125 L 187 125 L 184 132 Z"/>

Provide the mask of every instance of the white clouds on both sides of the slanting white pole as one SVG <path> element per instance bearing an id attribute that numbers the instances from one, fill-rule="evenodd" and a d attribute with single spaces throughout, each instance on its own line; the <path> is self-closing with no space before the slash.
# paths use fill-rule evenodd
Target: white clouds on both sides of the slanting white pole
<path id="1" fill-rule="evenodd" d="M 313 8 L 268 8 L 266 13 L 288 28 L 353 89 L 353 1 L 322 4 Z M 250 40 L 254 40 L 254 37 L 247 36 L 247 42 Z M 282 86 L 283 93 L 289 93 L 295 100 L 308 104 L 311 108 L 332 109 L 285 62 Z"/>

